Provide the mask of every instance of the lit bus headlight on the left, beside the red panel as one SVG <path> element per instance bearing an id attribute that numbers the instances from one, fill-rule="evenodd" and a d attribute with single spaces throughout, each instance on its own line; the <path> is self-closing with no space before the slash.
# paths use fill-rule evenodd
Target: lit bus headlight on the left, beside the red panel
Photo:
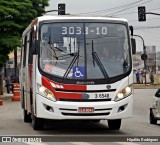
<path id="1" fill-rule="evenodd" d="M 40 84 L 37 84 L 37 89 L 38 89 L 38 92 L 45 98 L 49 99 L 49 100 L 52 100 L 52 101 L 56 101 L 55 99 L 55 96 L 53 95 L 53 93 L 47 89 L 46 87 L 40 85 Z"/>

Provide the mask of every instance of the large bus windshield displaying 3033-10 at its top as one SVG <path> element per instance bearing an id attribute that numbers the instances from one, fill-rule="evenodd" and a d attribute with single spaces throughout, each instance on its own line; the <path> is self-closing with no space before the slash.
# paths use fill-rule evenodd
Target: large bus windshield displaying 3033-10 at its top
<path id="1" fill-rule="evenodd" d="M 49 75 L 109 80 L 131 69 L 124 24 L 43 23 L 40 31 L 40 68 Z"/>

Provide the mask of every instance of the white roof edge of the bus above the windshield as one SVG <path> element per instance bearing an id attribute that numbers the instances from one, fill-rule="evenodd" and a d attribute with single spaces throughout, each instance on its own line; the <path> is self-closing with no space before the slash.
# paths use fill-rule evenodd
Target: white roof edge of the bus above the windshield
<path id="1" fill-rule="evenodd" d="M 102 21 L 115 21 L 115 22 L 127 23 L 127 19 L 108 17 L 108 16 L 44 15 L 44 16 L 35 18 L 31 22 L 31 24 L 26 28 L 26 30 L 23 32 L 23 36 L 31 29 L 33 25 L 38 24 L 41 21 L 48 21 L 48 20 L 102 20 Z"/>

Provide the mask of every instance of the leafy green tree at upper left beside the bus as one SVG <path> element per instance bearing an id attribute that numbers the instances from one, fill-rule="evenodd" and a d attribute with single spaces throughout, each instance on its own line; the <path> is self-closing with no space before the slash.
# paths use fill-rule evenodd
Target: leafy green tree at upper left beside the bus
<path id="1" fill-rule="evenodd" d="M 48 0 L 0 0 L 0 67 L 8 60 L 8 54 L 21 45 L 24 29 L 35 17 L 43 15 L 48 5 Z"/>

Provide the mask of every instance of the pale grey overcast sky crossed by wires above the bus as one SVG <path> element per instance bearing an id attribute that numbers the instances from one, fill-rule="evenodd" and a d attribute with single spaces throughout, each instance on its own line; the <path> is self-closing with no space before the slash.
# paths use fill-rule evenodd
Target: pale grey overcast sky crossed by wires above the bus
<path id="1" fill-rule="evenodd" d="M 145 6 L 146 12 L 160 13 L 160 0 L 50 0 L 46 10 L 57 9 L 58 3 L 65 3 L 66 13 L 70 14 L 126 18 L 134 27 L 134 34 L 144 38 L 146 46 L 154 45 L 160 51 L 160 16 L 147 15 L 146 22 L 138 22 L 137 14 L 138 6 Z M 142 50 L 142 40 L 136 38 L 136 41 L 138 50 Z"/>

